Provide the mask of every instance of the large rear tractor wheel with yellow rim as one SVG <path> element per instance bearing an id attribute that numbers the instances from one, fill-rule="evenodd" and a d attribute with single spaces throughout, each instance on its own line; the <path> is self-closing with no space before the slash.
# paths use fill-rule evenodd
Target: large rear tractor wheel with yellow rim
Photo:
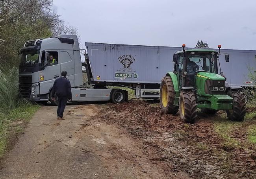
<path id="1" fill-rule="evenodd" d="M 160 105 L 164 113 L 176 114 L 178 112 L 178 106 L 174 105 L 174 100 L 173 80 L 170 76 L 166 76 L 162 79 L 160 87 Z"/>

